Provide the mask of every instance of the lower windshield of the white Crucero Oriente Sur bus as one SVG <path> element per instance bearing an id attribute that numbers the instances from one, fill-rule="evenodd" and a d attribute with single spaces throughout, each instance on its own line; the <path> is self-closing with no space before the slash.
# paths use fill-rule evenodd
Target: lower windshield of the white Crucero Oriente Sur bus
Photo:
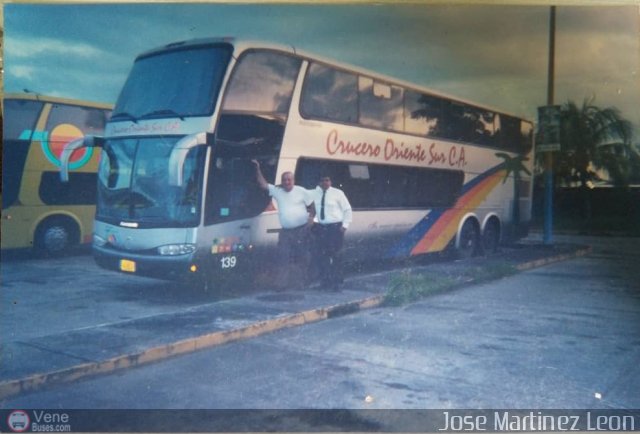
<path id="1" fill-rule="evenodd" d="M 167 161 L 179 139 L 108 140 L 98 170 L 96 218 L 136 222 L 139 227 L 197 226 L 205 147 L 187 155 L 183 185 L 170 185 Z"/>

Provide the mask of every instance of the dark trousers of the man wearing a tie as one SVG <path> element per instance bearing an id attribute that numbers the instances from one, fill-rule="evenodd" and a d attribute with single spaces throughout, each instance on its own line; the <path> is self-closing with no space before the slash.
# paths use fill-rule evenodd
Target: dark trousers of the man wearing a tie
<path id="1" fill-rule="evenodd" d="M 342 223 L 315 224 L 313 234 L 316 247 L 313 262 L 317 276 L 323 284 L 341 283 L 343 271 L 338 252 L 342 249 L 344 242 Z"/>

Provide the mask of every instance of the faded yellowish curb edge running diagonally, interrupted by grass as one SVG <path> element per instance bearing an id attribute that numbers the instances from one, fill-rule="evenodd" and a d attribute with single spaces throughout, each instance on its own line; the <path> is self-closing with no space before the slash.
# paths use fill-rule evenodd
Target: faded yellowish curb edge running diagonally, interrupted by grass
<path id="1" fill-rule="evenodd" d="M 573 253 L 566 253 L 524 262 L 516 265 L 515 268 L 519 271 L 531 270 L 552 263 L 582 257 L 589 254 L 591 251 L 591 247 L 586 247 L 576 250 Z M 121 369 L 138 367 L 158 362 L 169 357 L 189 354 L 194 351 L 212 348 L 230 342 L 255 338 L 285 328 L 298 327 L 305 324 L 349 315 L 364 309 L 379 307 L 384 302 L 384 299 L 385 295 L 382 294 L 357 301 L 283 315 L 259 321 L 245 327 L 207 333 L 174 343 L 152 347 L 138 353 L 125 354 L 99 362 L 83 363 L 57 371 L 34 374 L 22 379 L 0 382 L 0 399 L 7 399 L 21 393 L 32 392 L 44 386 L 63 384 L 81 378 L 108 374 Z"/>

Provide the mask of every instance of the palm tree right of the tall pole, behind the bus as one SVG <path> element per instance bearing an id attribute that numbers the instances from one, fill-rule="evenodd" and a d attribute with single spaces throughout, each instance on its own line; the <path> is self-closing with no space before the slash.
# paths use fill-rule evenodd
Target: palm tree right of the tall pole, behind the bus
<path id="1" fill-rule="evenodd" d="M 612 142 L 631 146 L 632 126 L 614 107 L 600 108 L 594 98 L 579 107 L 573 101 L 562 106 L 560 144 L 562 151 L 554 161 L 554 172 L 565 181 L 578 181 L 583 190 L 584 217 L 591 218 L 589 185 L 598 179 L 594 169 L 604 169 L 614 183 L 628 183 L 629 160 L 623 153 L 612 153 Z"/>

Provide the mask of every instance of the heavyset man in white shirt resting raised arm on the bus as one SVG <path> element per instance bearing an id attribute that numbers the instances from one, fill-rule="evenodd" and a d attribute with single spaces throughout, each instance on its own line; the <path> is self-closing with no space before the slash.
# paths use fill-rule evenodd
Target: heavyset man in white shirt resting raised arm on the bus
<path id="1" fill-rule="evenodd" d="M 310 229 L 316 214 L 313 196 L 309 190 L 295 185 L 291 172 L 282 174 L 280 185 L 269 184 L 260 170 L 260 163 L 257 160 L 251 161 L 256 166 L 258 184 L 263 190 L 268 191 L 269 196 L 278 204 L 282 230 L 278 236 L 281 263 L 277 284 L 303 286 L 309 271 Z"/>

